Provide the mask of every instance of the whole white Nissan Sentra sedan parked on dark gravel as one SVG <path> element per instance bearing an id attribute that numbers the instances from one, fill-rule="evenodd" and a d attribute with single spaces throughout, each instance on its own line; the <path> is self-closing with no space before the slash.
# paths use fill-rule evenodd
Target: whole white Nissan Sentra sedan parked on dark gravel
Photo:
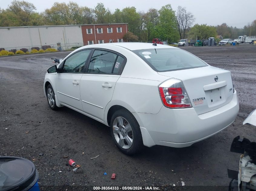
<path id="1" fill-rule="evenodd" d="M 187 147 L 229 126 L 239 110 L 231 72 L 151 43 L 83 46 L 47 70 L 51 109 L 66 106 L 111 127 L 125 154 Z"/>

